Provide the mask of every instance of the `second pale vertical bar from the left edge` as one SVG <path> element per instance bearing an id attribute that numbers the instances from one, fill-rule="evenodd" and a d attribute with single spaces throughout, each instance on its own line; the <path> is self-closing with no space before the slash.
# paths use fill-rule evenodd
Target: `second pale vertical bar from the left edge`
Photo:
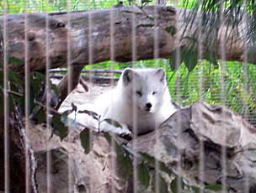
<path id="1" fill-rule="evenodd" d="M 28 49 L 28 12 L 27 12 L 27 0 L 24 0 L 24 65 L 25 65 L 25 133 L 29 132 L 29 49 Z M 28 143 L 25 143 L 25 173 L 26 173 L 26 193 L 29 193 L 29 147 Z"/>

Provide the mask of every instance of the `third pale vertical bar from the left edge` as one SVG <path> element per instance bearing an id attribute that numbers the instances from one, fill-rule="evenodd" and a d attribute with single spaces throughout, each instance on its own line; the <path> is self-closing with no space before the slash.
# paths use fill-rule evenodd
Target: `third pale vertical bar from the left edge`
<path id="1" fill-rule="evenodd" d="M 48 3 L 48 2 L 47 2 Z M 51 148 L 50 148 L 50 139 L 49 136 L 51 136 L 51 120 L 49 117 L 50 112 L 50 53 L 49 53 L 49 15 L 47 13 L 48 10 L 46 10 L 45 13 L 45 99 L 46 99 L 46 140 L 47 140 L 47 147 L 46 147 L 46 174 L 47 174 L 47 193 L 51 193 Z"/>

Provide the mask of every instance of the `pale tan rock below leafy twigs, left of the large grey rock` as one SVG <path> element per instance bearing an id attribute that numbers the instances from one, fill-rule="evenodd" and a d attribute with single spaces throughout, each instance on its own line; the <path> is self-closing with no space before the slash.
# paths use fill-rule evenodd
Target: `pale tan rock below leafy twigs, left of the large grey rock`
<path id="1" fill-rule="evenodd" d="M 105 193 L 111 190 L 123 192 L 127 187 L 125 180 L 116 172 L 114 149 L 101 134 L 93 136 L 93 146 L 89 154 L 84 153 L 80 139 L 77 138 L 79 130 L 62 141 L 55 134 L 49 140 L 50 136 L 51 133 L 47 132 L 45 125 L 30 124 L 29 138 L 35 149 L 38 165 L 36 181 L 40 192 L 47 192 L 47 154 L 51 155 L 51 192 L 67 192 L 68 188 L 74 193 Z"/>

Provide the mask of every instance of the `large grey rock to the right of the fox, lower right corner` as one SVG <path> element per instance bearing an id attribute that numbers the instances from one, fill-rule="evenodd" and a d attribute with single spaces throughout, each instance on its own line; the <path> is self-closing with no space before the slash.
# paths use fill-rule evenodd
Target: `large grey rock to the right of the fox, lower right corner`
<path id="1" fill-rule="evenodd" d="M 157 129 L 129 143 L 136 152 L 164 163 L 190 185 L 221 185 L 226 169 L 227 190 L 253 192 L 256 181 L 256 134 L 242 117 L 226 107 L 195 102 Z M 136 144 L 136 146 L 133 146 Z M 223 164 L 222 150 L 226 150 Z M 201 159 L 200 159 L 201 158 Z M 203 161 L 203 175 L 200 167 Z"/>

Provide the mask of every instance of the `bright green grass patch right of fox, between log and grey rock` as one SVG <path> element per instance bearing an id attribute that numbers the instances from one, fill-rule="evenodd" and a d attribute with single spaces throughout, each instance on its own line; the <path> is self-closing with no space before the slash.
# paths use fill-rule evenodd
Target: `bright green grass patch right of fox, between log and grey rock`
<path id="1" fill-rule="evenodd" d="M 211 65 L 207 61 L 202 61 L 190 73 L 182 65 L 179 73 L 169 81 L 169 87 L 173 99 L 183 105 L 192 104 L 201 97 L 211 104 L 225 102 L 224 105 L 232 110 L 253 116 L 256 110 L 256 90 L 253 84 L 256 80 L 256 66 L 248 65 L 247 72 L 245 74 L 244 65 L 238 62 L 226 62 L 225 70 L 221 70 L 220 63 Z"/>

